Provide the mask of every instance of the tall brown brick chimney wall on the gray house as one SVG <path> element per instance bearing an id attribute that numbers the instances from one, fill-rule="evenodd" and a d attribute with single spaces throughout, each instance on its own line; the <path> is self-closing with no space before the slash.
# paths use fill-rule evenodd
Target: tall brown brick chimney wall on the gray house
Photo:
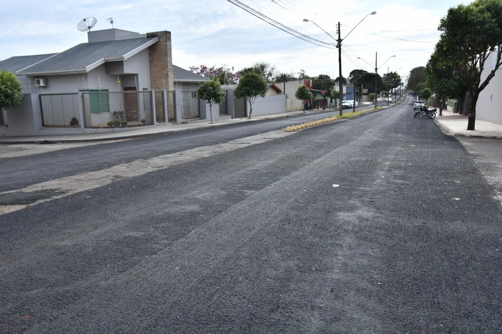
<path id="1" fill-rule="evenodd" d="M 159 42 L 148 48 L 151 88 L 174 90 L 171 33 L 168 31 L 154 32 L 148 33 L 147 37 L 159 38 Z"/>

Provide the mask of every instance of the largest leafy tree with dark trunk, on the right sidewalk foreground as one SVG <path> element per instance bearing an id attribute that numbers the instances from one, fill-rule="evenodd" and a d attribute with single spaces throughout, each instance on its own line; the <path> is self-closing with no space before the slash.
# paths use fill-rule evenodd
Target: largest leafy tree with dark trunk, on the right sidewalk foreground
<path id="1" fill-rule="evenodd" d="M 441 37 L 435 52 L 443 59 L 454 60 L 455 73 L 467 83 L 467 130 L 474 130 L 479 93 L 486 88 L 501 64 L 502 48 L 497 46 L 502 44 L 502 0 L 475 0 L 469 5 L 452 7 L 441 19 L 438 30 Z M 488 65 L 486 76 L 483 75 L 481 80 L 491 52 L 495 52 L 496 62 L 494 66 Z"/>

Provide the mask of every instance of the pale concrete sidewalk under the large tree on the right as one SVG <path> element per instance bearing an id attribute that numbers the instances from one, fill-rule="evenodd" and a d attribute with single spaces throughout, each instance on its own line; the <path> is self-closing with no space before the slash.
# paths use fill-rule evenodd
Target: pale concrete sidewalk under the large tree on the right
<path id="1" fill-rule="evenodd" d="M 502 124 L 496 124 L 476 119 L 475 130 L 468 131 L 467 116 L 454 114 L 451 111 L 443 110 L 443 115 L 437 112 L 434 121 L 443 132 L 453 136 L 476 137 L 476 138 L 502 138 Z"/>

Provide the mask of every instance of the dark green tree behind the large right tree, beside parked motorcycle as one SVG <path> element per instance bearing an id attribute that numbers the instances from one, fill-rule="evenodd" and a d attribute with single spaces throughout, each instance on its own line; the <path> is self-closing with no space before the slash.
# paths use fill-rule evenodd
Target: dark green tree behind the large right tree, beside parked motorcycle
<path id="1" fill-rule="evenodd" d="M 431 55 L 425 67 L 427 86 L 436 94 L 439 115 L 443 115 L 448 97 L 455 97 L 467 90 L 463 81 L 453 69 L 453 60 L 441 57 L 436 52 Z"/>

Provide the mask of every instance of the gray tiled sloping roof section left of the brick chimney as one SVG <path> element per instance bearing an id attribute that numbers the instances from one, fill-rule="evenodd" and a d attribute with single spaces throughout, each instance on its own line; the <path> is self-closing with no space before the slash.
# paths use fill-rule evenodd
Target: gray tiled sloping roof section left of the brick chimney
<path id="1" fill-rule="evenodd" d="M 89 72 L 106 60 L 125 60 L 148 48 L 159 39 L 132 38 L 116 41 L 82 43 L 39 63 L 32 63 L 19 74 Z"/>

